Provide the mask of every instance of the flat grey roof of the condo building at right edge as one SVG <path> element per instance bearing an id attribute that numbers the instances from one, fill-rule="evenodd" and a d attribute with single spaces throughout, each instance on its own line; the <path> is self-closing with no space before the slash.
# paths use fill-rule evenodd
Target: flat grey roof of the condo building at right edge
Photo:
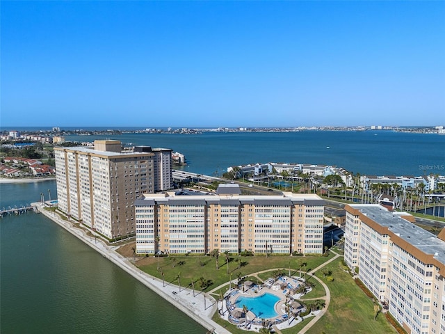
<path id="1" fill-rule="evenodd" d="M 359 210 L 359 212 L 375 221 L 375 223 L 388 228 L 389 231 L 405 240 L 408 244 L 411 244 L 425 254 L 433 255 L 436 260 L 445 264 L 445 241 L 439 239 L 435 234 L 401 218 L 401 215 L 408 215 L 407 213 L 389 212 L 388 209 L 377 204 L 349 206 Z"/>

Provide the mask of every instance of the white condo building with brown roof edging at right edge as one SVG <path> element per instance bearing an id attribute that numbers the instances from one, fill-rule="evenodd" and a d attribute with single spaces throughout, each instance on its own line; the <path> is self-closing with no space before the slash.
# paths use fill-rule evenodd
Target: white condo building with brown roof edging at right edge
<path id="1" fill-rule="evenodd" d="M 407 333 L 445 333 L 445 230 L 410 214 L 346 205 L 345 262 Z"/>

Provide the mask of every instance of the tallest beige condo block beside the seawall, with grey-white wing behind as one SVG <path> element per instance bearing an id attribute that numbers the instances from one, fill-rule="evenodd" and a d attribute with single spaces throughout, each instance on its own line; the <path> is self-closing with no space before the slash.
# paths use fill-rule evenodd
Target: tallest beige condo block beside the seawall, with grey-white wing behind
<path id="1" fill-rule="evenodd" d="M 58 208 L 108 239 L 132 235 L 134 200 L 172 187 L 168 154 L 148 146 L 122 151 L 120 141 L 110 140 L 95 141 L 94 148 L 54 148 Z"/>

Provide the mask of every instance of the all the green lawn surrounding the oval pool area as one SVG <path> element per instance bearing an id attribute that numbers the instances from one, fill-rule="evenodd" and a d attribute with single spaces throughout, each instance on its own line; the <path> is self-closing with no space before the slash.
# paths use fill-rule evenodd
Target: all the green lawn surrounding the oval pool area
<path id="1" fill-rule="evenodd" d="M 251 273 L 257 271 L 263 271 L 270 268 L 281 269 L 284 272 L 288 272 L 289 260 L 291 261 L 291 268 L 294 269 L 292 274 L 298 276 L 298 267 L 300 260 L 307 263 L 307 266 L 303 270 L 310 270 L 318 267 L 319 264 L 332 258 L 332 254 L 328 257 L 290 257 L 290 256 L 253 256 L 253 257 L 238 257 L 235 255 L 230 256 L 232 260 L 229 262 L 229 274 L 227 274 L 227 264 L 225 257 L 219 257 L 219 269 L 216 269 L 216 259 L 209 256 L 177 256 L 174 260 L 172 257 L 145 257 L 139 258 L 138 267 L 149 273 L 150 275 L 162 278 L 161 271 L 157 270 L 157 263 L 159 260 L 159 267 L 164 274 L 165 283 L 178 284 L 177 276 L 180 275 L 181 286 L 191 287 L 191 281 L 195 282 L 195 289 L 200 289 L 199 278 L 203 276 L 205 280 L 211 280 L 212 285 L 206 290 L 209 291 L 218 285 L 227 283 L 232 273 L 232 279 L 237 277 L 238 273 L 242 273 L 243 276 L 250 276 Z M 238 268 L 239 263 L 236 259 L 240 258 L 241 267 Z M 327 284 L 331 292 L 330 306 L 319 319 L 316 324 L 308 331 L 309 334 L 343 334 L 343 333 L 374 333 L 374 334 L 386 334 L 396 333 L 394 328 L 389 324 L 383 315 L 378 315 L 377 320 L 374 321 L 373 317 L 373 302 L 367 297 L 364 292 L 355 284 L 353 278 L 349 273 L 341 268 L 342 257 L 338 260 L 331 262 L 327 267 L 332 271 L 333 282 L 327 282 L 323 278 L 321 272 L 317 272 L 316 276 L 321 278 L 323 282 Z M 267 279 L 270 277 L 270 272 L 262 273 L 259 275 L 261 279 Z M 250 276 L 252 278 L 252 276 Z M 254 280 L 254 279 L 253 279 Z M 314 280 L 315 289 L 303 297 L 304 299 L 313 299 L 321 296 L 325 296 L 324 289 Z M 228 286 L 218 290 L 218 292 L 225 292 Z M 297 334 L 312 318 L 306 319 L 302 324 L 298 324 L 293 328 L 288 328 L 282 333 L 284 334 Z M 213 316 L 215 320 L 221 326 L 227 326 L 227 329 L 232 333 L 248 333 L 246 331 L 239 330 L 236 326 L 232 326 L 227 321 L 220 319 L 218 314 Z"/>

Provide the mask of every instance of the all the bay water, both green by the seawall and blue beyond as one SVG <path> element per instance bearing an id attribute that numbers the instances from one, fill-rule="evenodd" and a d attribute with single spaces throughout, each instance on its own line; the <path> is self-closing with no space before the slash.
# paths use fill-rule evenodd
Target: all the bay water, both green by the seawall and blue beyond
<path id="1" fill-rule="evenodd" d="M 109 137 L 67 140 L 98 138 Z M 186 155 L 188 166 L 182 168 L 207 175 L 270 161 L 332 164 L 362 175 L 445 173 L 445 136 L 438 135 L 314 131 L 123 134 L 110 139 L 172 148 Z M 0 184 L 0 208 L 38 201 L 40 193 L 56 198 L 56 182 Z M 205 333 L 44 216 L 2 218 L 0 238 L 1 333 Z"/>

